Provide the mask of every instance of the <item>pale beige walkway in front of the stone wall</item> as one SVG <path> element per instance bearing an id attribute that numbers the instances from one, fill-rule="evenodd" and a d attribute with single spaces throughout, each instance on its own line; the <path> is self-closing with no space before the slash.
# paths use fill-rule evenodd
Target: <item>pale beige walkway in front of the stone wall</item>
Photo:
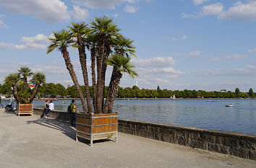
<path id="1" fill-rule="evenodd" d="M 235 156 L 119 133 L 119 141 L 74 141 L 67 123 L 0 109 L 0 167 L 256 167 Z"/>

